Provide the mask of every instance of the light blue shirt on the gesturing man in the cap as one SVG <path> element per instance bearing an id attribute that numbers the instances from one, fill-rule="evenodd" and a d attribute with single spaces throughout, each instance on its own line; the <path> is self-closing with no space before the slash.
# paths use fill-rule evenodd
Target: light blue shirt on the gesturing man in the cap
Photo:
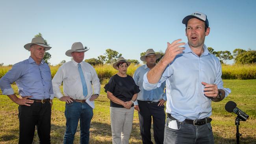
<path id="1" fill-rule="evenodd" d="M 211 99 L 204 96 L 204 85 L 201 82 L 216 84 L 218 89 L 225 91 L 225 97 L 228 96 L 231 90 L 223 88 L 221 63 L 215 55 L 209 53 L 206 45 L 200 57 L 191 51 L 188 43 L 184 47 L 184 53 L 177 55 L 165 68 L 158 83 L 148 83 L 146 73 L 143 87 L 146 90 L 155 89 L 166 81 L 166 113 L 177 120 L 210 117 Z"/>

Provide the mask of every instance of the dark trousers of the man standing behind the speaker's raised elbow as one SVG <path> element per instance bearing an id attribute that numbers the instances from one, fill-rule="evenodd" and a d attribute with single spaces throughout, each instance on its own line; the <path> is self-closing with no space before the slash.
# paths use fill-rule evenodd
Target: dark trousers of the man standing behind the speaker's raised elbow
<path id="1" fill-rule="evenodd" d="M 139 127 L 143 144 L 153 144 L 151 141 L 151 122 L 153 118 L 154 140 L 156 144 L 163 144 L 165 128 L 164 105 L 158 106 L 158 103 L 148 103 L 139 101 Z M 151 118 L 152 116 L 152 118 Z"/>

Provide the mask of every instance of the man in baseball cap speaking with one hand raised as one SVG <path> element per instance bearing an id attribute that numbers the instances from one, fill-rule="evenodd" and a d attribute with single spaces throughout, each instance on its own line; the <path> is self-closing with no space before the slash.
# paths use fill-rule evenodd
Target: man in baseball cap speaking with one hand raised
<path id="1" fill-rule="evenodd" d="M 211 101 L 219 102 L 231 91 L 223 87 L 219 59 L 204 45 L 210 33 L 206 15 L 195 12 L 182 23 L 187 44 L 181 39 L 168 42 L 158 65 L 144 75 L 143 87 L 155 89 L 166 81 L 165 144 L 214 144 Z"/>

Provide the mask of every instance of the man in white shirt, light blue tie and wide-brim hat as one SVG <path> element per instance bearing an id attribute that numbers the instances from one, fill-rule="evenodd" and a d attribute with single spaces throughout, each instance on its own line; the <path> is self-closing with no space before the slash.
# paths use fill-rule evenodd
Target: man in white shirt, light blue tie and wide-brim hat
<path id="1" fill-rule="evenodd" d="M 90 124 L 93 118 L 94 100 L 100 94 L 100 80 L 95 69 L 89 63 L 83 61 L 84 53 L 89 50 L 83 47 L 81 42 L 74 42 L 66 55 L 73 57 L 67 63 L 61 65 L 52 79 L 54 96 L 66 102 L 66 132 L 64 144 L 72 144 L 74 135 L 80 121 L 80 143 L 88 144 Z M 63 82 L 63 94 L 59 86 Z M 93 85 L 93 88 L 92 88 Z"/>

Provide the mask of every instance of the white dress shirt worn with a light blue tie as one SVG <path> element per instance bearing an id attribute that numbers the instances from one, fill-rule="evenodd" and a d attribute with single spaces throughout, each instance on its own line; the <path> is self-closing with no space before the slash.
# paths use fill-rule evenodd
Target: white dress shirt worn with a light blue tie
<path id="1" fill-rule="evenodd" d="M 78 71 L 78 63 L 72 60 L 61 65 L 56 72 L 54 78 L 52 79 L 52 86 L 54 91 L 54 96 L 61 98 L 63 95 L 59 89 L 63 81 L 63 93 L 65 96 L 71 96 L 76 100 L 85 100 L 94 94 L 100 94 L 100 80 L 96 74 L 95 69 L 89 63 L 82 61 L 81 67 L 83 70 L 83 75 L 85 77 L 87 85 L 87 96 L 83 96 L 83 87 L 80 79 L 80 74 Z M 92 88 L 93 85 L 93 88 Z"/>

